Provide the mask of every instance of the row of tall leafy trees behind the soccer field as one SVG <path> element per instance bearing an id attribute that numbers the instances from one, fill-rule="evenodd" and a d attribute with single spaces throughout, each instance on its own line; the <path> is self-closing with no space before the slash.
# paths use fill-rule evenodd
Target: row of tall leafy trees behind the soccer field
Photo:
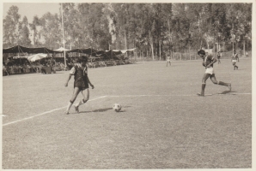
<path id="1" fill-rule="evenodd" d="M 97 50 L 136 47 L 145 56 L 204 48 L 251 49 L 252 3 L 63 3 L 32 23 L 12 6 L 3 19 L 3 46 Z M 62 5 L 62 8 L 61 8 Z"/>

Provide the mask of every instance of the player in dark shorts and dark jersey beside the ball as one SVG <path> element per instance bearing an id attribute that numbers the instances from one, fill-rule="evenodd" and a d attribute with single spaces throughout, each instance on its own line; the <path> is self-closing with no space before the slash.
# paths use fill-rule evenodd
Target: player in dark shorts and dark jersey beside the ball
<path id="1" fill-rule="evenodd" d="M 83 103 L 86 103 L 89 98 L 88 84 L 92 87 L 92 89 L 94 89 L 94 85 L 92 85 L 88 79 L 88 70 L 86 65 L 87 62 L 88 58 L 86 56 L 81 56 L 77 61 L 77 64 L 70 70 L 69 78 L 64 85 L 68 86 L 70 78 L 72 75 L 74 75 L 74 91 L 64 114 L 69 114 L 70 107 L 75 102 L 77 95 L 81 91 L 83 98 L 79 103 L 74 105 L 76 112 L 79 113 L 79 106 Z"/>

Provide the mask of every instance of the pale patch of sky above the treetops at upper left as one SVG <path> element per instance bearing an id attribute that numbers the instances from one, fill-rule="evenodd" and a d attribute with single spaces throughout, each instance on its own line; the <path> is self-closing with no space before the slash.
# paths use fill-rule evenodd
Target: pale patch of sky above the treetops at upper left
<path id="1" fill-rule="evenodd" d="M 19 15 L 21 15 L 21 20 L 24 16 L 27 16 L 28 23 L 32 23 L 34 15 L 41 16 L 45 15 L 47 12 L 52 14 L 59 14 L 59 3 L 3 3 L 3 19 L 7 15 L 9 8 L 15 5 L 19 8 Z"/>

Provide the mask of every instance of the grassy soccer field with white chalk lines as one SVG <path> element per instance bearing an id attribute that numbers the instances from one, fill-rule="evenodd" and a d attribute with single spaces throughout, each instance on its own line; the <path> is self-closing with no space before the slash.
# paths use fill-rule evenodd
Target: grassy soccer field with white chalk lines
<path id="1" fill-rule="evenodd" d="M 91 68 L 95 88 L 70 115 L 69 71 L 5 76 L 3 168 L 252 168 L 252 59 L 237 64 L 215 64 L 232 91 L 209 79 L 205 97 L 202 61 Z"/>

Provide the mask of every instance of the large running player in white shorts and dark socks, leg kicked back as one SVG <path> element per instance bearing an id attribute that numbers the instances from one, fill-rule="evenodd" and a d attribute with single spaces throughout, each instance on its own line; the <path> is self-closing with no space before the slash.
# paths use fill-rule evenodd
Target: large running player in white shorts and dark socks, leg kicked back
<path id="1" fill-rule="evenodd" d="M 198 50 L 198 56 L 203 59 L 203 66 L 206 68 L 204 77 L 202 80 L 202 89 L 201 93 L 198 93 L 198 96 L 204 97 L 204 89 L 206 85 L 206 80 L 210 77 L 210 80 L 216 85 L 225 85 L 229 87 L 229 91 L 231 91 L 231 83 L 224 83 L 222 81 L 217 81 L 214 70 L 213 70 L 213 63 L 216 62 L 216 58 L 213 56 L 205 56 L 204 50 Z"/>

